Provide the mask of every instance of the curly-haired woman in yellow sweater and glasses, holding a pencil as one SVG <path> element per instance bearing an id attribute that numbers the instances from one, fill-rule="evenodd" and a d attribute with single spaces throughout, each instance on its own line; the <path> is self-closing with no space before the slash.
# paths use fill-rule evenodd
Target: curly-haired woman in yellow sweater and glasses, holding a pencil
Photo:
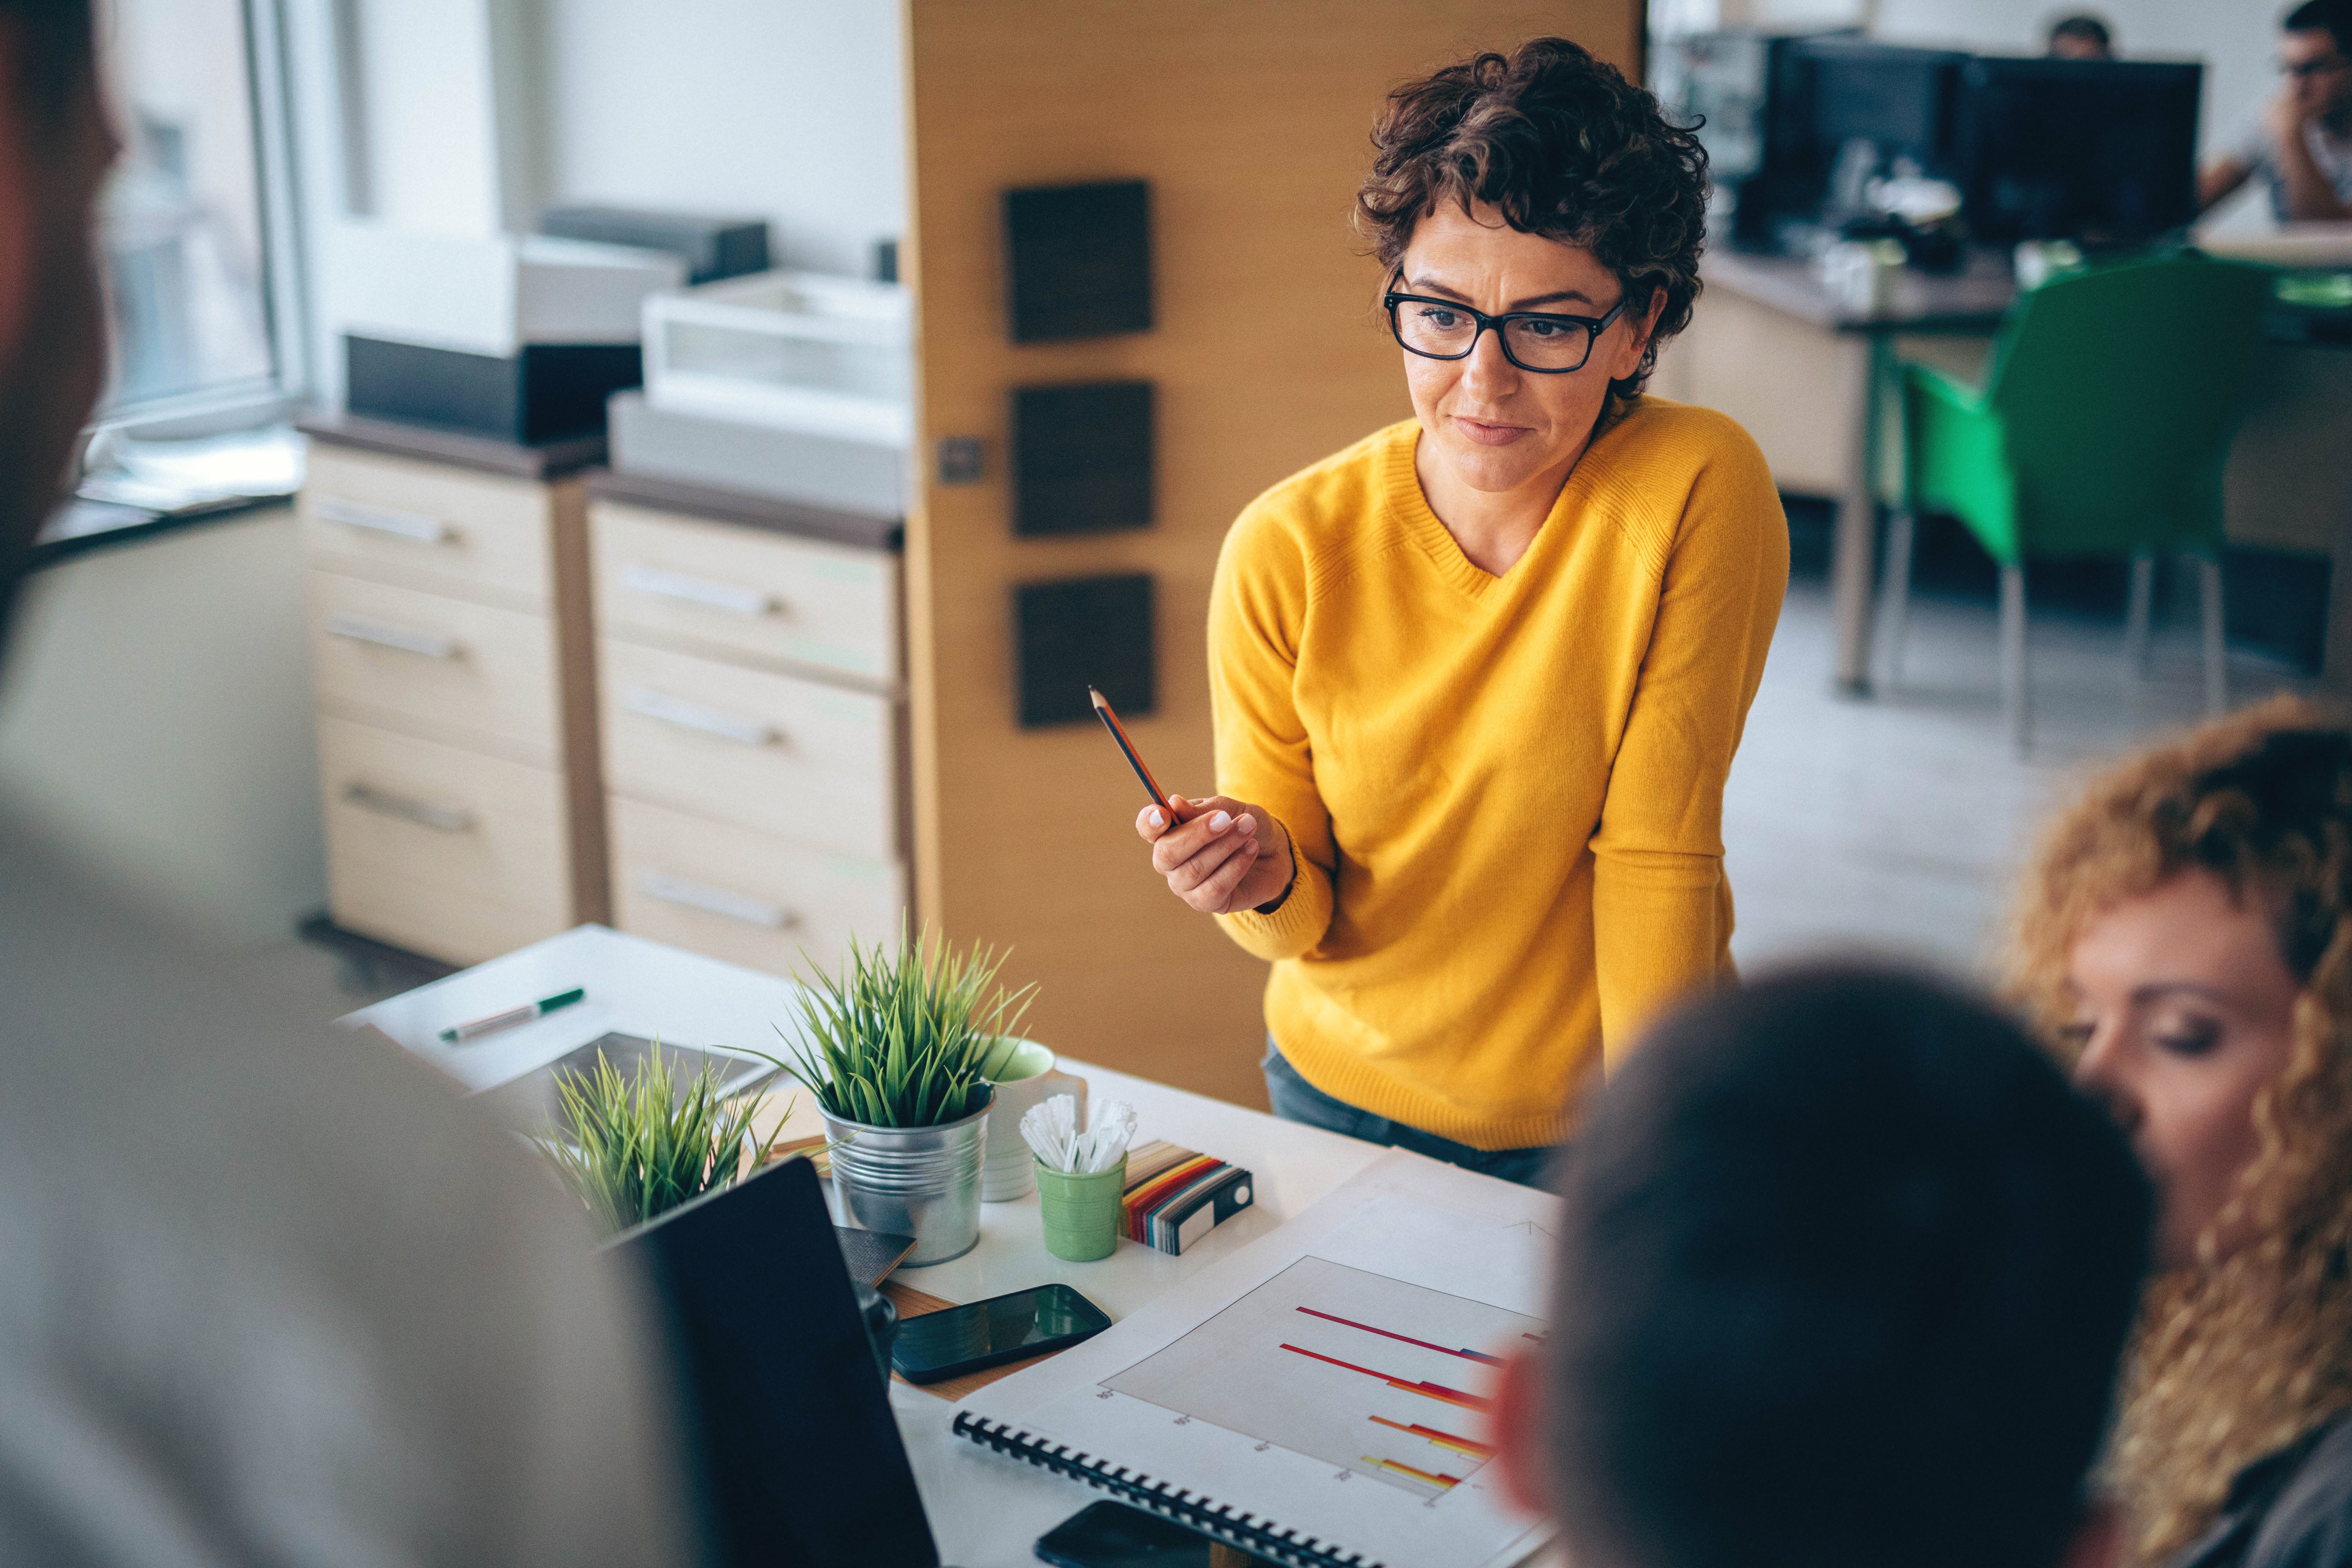
<path id="1" fill-rule="evenodd" d="M 1541 38 L 1399 87 L 1374 146 L 1414 418 L 1232 524 L 1218 795 L 1136 830 L 1272 959 L 1277 1114 L 1538 1180 L 1571 1091 L 1729 973 L 1788 524 L 1738 425 L 1639 390 L 1705 233 L 1656 99 Z"/>

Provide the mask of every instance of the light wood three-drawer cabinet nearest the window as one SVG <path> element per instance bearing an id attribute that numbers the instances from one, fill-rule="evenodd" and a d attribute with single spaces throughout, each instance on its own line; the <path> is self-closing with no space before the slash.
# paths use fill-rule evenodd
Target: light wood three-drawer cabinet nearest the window
<path id="1" fill-rule="evenodd" d="M 452 964 L 609 919 L 579 477 L 602 444 L 303 430 L 332 919 Z"/>

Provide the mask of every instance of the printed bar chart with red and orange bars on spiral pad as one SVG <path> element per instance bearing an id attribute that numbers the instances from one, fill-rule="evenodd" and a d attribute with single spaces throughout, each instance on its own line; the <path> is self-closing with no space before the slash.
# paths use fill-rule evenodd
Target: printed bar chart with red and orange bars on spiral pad
<path id="1" fill-rule="evenodd" d="M 1494 1403 L 1494 1349 L 1541 1331 L 1489 1302 L 1301 1258 L 1101 1387 L 1435 1500 L 1494 1458 L 1463 1432 Z"/>

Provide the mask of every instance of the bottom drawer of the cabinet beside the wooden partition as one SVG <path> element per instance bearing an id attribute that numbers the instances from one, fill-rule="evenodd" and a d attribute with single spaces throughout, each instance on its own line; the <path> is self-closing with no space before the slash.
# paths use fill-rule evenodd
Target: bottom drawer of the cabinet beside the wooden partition
<path id="1" fill-rule="evenodd" d="M 851 933 L 898 938 L 906 879 L 896 863 L 835 856 L 626 795 L 609 802 L 621 931 L 779 976 L 833 969 Z"/>

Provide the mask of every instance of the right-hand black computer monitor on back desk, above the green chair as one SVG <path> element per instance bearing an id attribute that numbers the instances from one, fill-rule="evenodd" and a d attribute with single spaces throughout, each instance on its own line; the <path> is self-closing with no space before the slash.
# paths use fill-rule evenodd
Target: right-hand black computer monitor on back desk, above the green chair
<path id="1" fill-rule="evenodd" d="M 2105 59 L 1969 61 L 1962 216 L 1987 244 L 2133 244 L 2197 216 L 2204 66 Z"/>

